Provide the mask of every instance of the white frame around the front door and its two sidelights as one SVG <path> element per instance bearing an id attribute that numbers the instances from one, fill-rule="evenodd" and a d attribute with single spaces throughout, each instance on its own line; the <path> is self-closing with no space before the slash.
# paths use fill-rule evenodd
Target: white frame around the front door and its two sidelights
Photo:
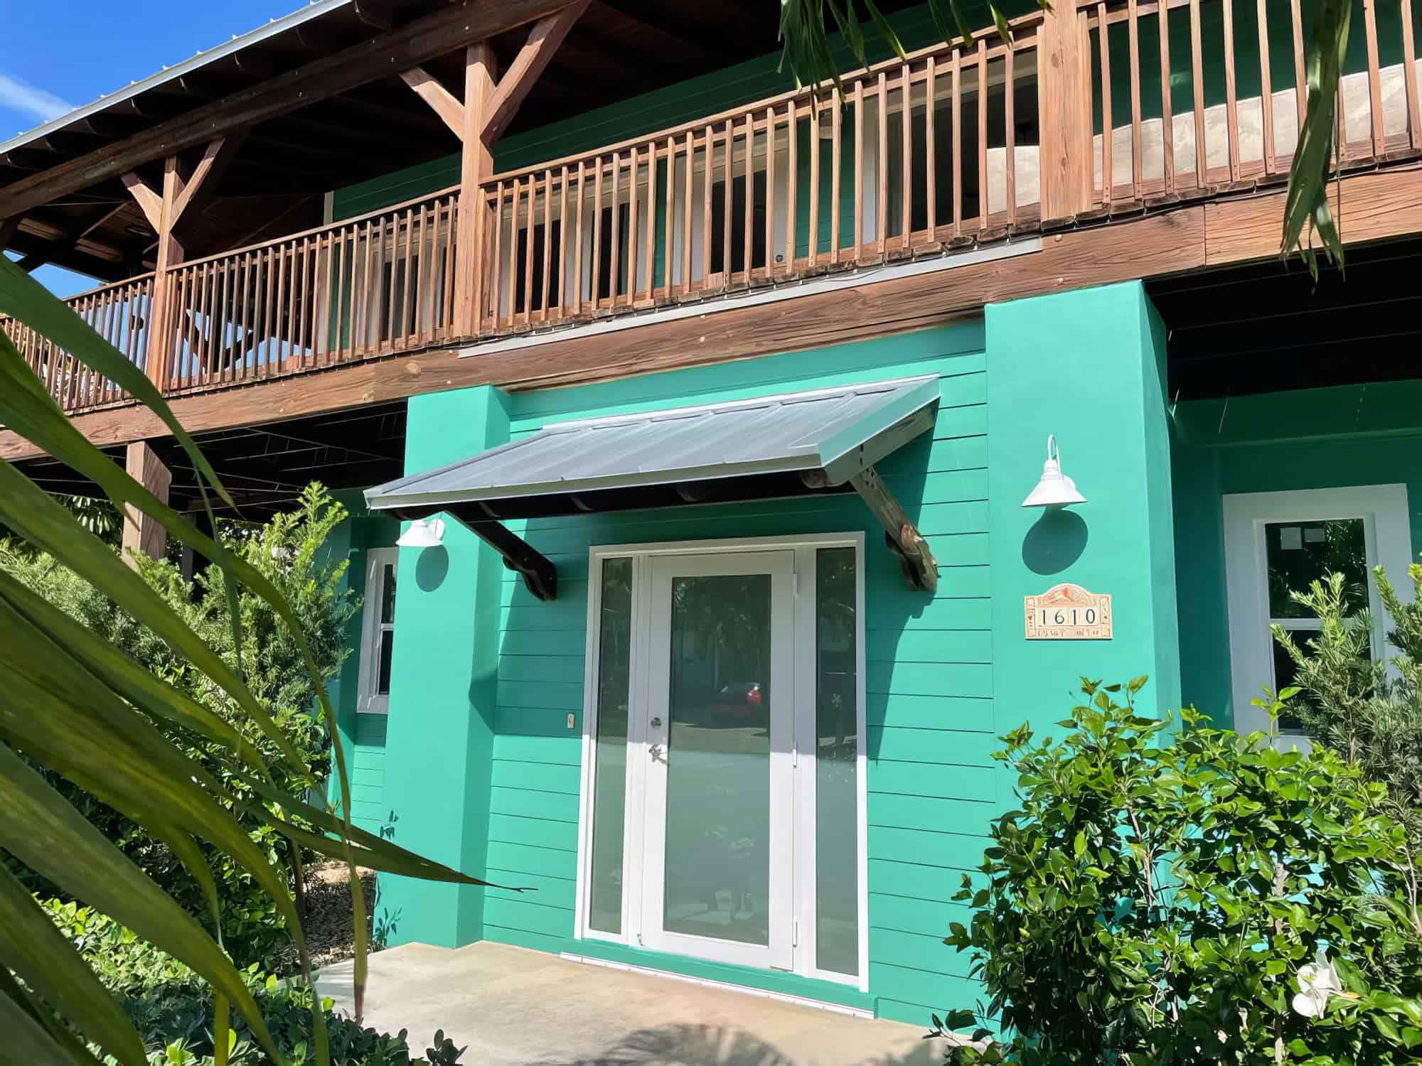
<path id="1" fill-rule="evenodd" d="M 798 648 L 809 648 L 811 654 L 796 654 L 795 677 L 796 688 L 813 691 L 815 684 L 815 553 L 823 547 L 853 547 L 855 549 L 855 583 L 856 583 L 856 669 L 857 669 L 857 736 L 859 745 L 855 765 L 856 804 L 857 804 L 857 870 L 859 870 L 859 974 L 848 975 L 819 969 L 815 965 L 815 756 L 799 758 L 795 779 L 796 829 L 808 827 L 811 831 L 796 831 L 795 837 L 795 870 L 796 874 L 809 871 L 809 877 L 798 876 L 795 883 L 796 914 L 801 920 L 798 945 L 795 948 L 793 972 L 819 981 L 830 981 L 840 985 L 853 985 L 860 992 L 869 991 L 869 816 L 867 816 L 867 735 L 866 735 L 866 692 L 865 692 L 865 534 L 863 533 L 818 533 L 778 537 L 742 537 L 732 540 L 687 540 L 687 542 L 654 542 L 640 544 L 603 544 L 589 550 L 589 581 L 587 581 L 587 637 L 583 671 L 583 759 L 582 782 L 579 795 L 577 817 L 577 894 L 574 904 L 574 940 L 602 940 L 613 944 L 637 945 L 637 931 L 641 922 L 641 854 L 643 831 L 638 802 L 634 803 L 634 772 L 647 759 L 647 708 L 646 685 L 633 685 L 629 692 L 627 706 L 627 783 L 626 783 L 626 823 L 623 826 L 623 868 L 629 876 L 623 880 L 623 917 L 621 932 L 610 934 L 587 927 L 587 891 L 589 864 L 592 861 L 593 836 L 593 786 L 596 782 L 597 758 L 597 658 L 600 650 L 602 623 L 602 581 L 597 574 L 602 571 L 603 560 L 631 557 L 633 560 L 633 603 L 631 603 L 631 644 L 630 677 L 646 678 L 647 661 L 650 655 L 648 627 L 643 620 L 648 617 L 651 605 L 651 581 L 648 561 L 653 556 L 678 554 L 708 554 L 708 553 L 741 553 L 772 549 L 795 550 L 795 634 Z M 809 590 L 802 596 L 802 590 Z M 809 685 L 802 688 L 802 685 Z M 816 721 L 815 701 L 798 699 L 795 712 L 796 748 L 801 755 L 815 750 Z M 637 782 L 640 785 L 640 782 Z M 808 925 L 808 928 L 806 928 Z M 634 928 L 637 927 L 637 928 Z M 690 957 L 688 957 L 690 958 Z M 766 971 L 774 972 L 774 971 Z"/>

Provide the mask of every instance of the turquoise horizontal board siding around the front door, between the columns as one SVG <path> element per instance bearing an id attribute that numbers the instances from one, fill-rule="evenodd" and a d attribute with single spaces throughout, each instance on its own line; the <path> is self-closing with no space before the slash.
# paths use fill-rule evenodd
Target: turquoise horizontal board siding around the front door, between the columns
<path id="1" fill-rule="evenodd" d="M 589 547 L 865 530 L 870 995 L 882 1013 L 913 1022 L 971 1005 L 977 992 L 964 959 L 941 940 L 948 921 L 961 917 L 950 898 L 961 873 L 981 860 L 998 800 L 990 758 L 985 370 L 981 352 L 934 355 L 923 337 L 815 352 L 820 377 L 812 381 L 803 371 L 798 382 L 766 381 L 776 365 L 768 360 L 754 384 L 744 370 L 727 367 L 674 375 L 683 387 L 704 385 L 674 398 L 648 395 L 661 384 L 657 378 L 643 378 L 636 391 L 576 389 L 583 407 L 557 392 L 520 398 L 515 431 L 528 434 L 563 416 L 665 407 L 668 399 L 695 404 L 937 371 L 943 399 L 933 434 L 880 463 L 880 472 L 919 517 L 941 578 L 936 598 L 912 593 L 855 496 L 512 523 L 557 564 L 559 597 L 538 603 L 513 574 L 503 586 L 488 867 L 492 880 L 535 891 L 492 893 L 488 937 L 572 947 Z M 866 368 L 869 348 L 894 347 L 917 360 L 882 372 Z M 589 409 L 589 398 L 606 402 Z"/>

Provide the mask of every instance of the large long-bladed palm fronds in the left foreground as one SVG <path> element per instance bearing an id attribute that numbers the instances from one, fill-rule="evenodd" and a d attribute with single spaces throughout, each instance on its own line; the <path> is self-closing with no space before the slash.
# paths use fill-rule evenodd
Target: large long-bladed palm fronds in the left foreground
<path id="1" fill-rule="evenodd" d="M 47 341 L 51 374 L 94 371 L 148 407 L 172 434 L 191 463 L 205 505 L 233 506 L 212 463 L 173 416 L 154 382 L 74 311 L 28 274 L 0 256 L 0 316 Z M 18 434 L 57 462 L 92 482 L 117 509 L 134 507 L 161 524 L 175 544 L 203 556 L 223 571 L 233 651 L 245 647 L 239 588 L 264 600 L 287 627 L 316 694 L 321 718 L 334 728 L 321 669 L 304 627 L 276 584 L 249 559 L 213 540 L 135 482 L 64 416 L 34 370 L 0 331 L 0 425 Z M 209 510 L 210 513 L 210 510 Z M 206 677 L 237 708 L 240 726 L 186 691 L 118 651 L 107 634 L 77 623 L 43 594 L 0 569 L 0 851 L 46 878 L 67 897 L 94 907 L 156 948 L 192 967 L 212 991 L 212 1032 L 225 1060 L 233 1015 L 250 1028 L 264 1053 L 282 1059 L 262 1011 L 237 967 L 223 949 L 223 900 L 210 858 L 223 856 L 252 878 L 286 922 L 310 984 L 310 955 L 290 883 L 235 813 L 279 833 L 293 854 L 301 849 L 340 858 L 351 876 L 356 927 L 354 1002 L 357 1018 L 365 981 L 365 905 L 357 868 L 452 884 L 483 881 L 397 847 L 350 822 L 350 775 L 340 736 L 331 736 L 340 810 L 306 802 L 317 786 L 309 760 L 273 721 L 243 679 L 243 662 L 223 659 L 186 618 L 73 513 L 10 463 L 0 462 L 0 527 L 73 570 L 98 594 L 122 605 L 135 624 L 151 631 Z M 263 758 L 243 732 L 250 726 L 277 759 Z M 181 739 L 175 739 L 181 738 Z M 193 758 L 189 745 L 212 745 L 210 762 Z M 283 790 L 273 765 L 300 783 Z M 216 766 L 218 770 L 212 768 Z M 68 786 L 141 827 L 186 870 L 206 904 L 203 927 L 164 891 L 129 856 L 105 837 L 54 782 Z M 232 785 L 252 790 L 243 800 Z M 319 799 L 319 797 L 317 797 Z M 208 849 L 206 851 L 203 849 Z M 296 884 L 300 885 L 300 877 Z M 311 1003 L 310 1043 L 319 1063 L 330 1062 L 326 1013 Z M 0 1030 L 6 1053 L 18 1062 L 82 1063 L 88 1056 L 75 1033 L 100 1045 L 124 1066 L 144 1066 L 137 1029 L 118 1011 L 84 957 L 55 932 L 43 908 L 24 891 L 10 867 L 0 870 Z"/>

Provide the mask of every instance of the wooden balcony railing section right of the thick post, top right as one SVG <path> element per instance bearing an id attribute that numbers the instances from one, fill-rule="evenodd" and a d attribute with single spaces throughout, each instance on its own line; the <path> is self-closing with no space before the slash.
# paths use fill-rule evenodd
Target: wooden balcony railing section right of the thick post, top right
<path id="1" fill-rule="evenodd" d="M 1349 48 L 1338 90 L 1335 145 L 1345 166 L 1422 151 L 1412 3 L 1357 6 L 1349 38 L 1362 47 Z M 1084 6 L 1079 17 L 1094 70 L 1085 99 L 1092 114 L 1092 202 L 1283 181 L 1308 92 L 1308 28 L 1300 9 L 1300 0 Z"/>

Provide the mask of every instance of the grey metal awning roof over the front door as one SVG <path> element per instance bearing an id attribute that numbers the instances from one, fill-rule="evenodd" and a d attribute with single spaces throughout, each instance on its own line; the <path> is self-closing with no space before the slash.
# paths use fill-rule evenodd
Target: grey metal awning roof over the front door
<path id="1" fill-rule="evenodd" d="M 819 470 L 936 404 L 939 377 L 559 422 L 365 490 L 377 510 Z"/>

